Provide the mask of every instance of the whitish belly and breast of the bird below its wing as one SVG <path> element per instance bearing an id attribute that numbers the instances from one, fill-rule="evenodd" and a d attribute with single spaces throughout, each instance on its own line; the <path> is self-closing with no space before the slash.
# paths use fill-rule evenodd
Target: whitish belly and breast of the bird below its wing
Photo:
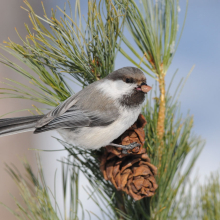
<path id="1" fill-rule="evenodd" d="M 112 124 L 103 127 L 84 127 L 79 131 L 59 129 L 58 132 L 69 144 L 86 149 L 98 149 L 118 138 L 137 120 L 141 106 L 133 109 L 122 108 L 121 116 Z"/>

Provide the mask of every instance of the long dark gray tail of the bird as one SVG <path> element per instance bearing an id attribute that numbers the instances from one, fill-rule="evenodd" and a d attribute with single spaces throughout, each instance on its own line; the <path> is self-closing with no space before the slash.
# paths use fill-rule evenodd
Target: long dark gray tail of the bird
<path id="1" fill-rule="evenodd" d="M 19 118 L 0 119 L 0 137 L 21 132 L 34 131 L 35 124 L 44 115 L 34 115 Z"/>

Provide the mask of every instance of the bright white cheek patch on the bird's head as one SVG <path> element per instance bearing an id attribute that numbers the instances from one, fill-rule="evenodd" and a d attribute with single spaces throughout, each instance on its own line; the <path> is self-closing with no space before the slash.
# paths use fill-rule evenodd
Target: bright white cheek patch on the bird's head
<path id="1" fill-rule="evenodd" d="M 123 95 L 129 95 L 135 88 L 134 84 L 125 83 L 122 80 L 105 80 L 98 86 L 105 95 L 111 98 L 121 98 Z"/>

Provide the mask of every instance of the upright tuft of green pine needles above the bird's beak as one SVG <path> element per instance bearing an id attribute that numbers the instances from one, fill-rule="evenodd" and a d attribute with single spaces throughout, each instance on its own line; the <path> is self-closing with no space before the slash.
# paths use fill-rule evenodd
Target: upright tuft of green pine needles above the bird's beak
<path id="1" fill-rule="evenodd" d="M 142 68 L 143 64 L 148 70 L 142 70 L 155 79 L 166 74 L 182 35 L 181 31 L 177 40 L 179 1 L 147 0 L 139 4 L 135 0 L 115 2 L 119 9 L 126 12 L 126 27 L 140 49 L 137 52 L 134 45 L 123 36 L 123 42 L 132 53 L 126 53 L 123 48 L 120 48 L 120 52 L 137 67 Z M 133 55 L 140 60 L 139 64 L 135 62 Z"/>

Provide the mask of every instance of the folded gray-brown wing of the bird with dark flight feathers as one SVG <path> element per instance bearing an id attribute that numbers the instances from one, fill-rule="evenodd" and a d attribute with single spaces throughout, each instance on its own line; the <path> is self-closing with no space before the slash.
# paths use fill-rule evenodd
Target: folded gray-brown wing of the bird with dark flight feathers
<path id="1" fill-rule="evenodd" d="M 93 83 L 39 120 L 35 133 L 58 128 L 106 126 L 118 116 L 114 101 L 95 89 Z"/>

